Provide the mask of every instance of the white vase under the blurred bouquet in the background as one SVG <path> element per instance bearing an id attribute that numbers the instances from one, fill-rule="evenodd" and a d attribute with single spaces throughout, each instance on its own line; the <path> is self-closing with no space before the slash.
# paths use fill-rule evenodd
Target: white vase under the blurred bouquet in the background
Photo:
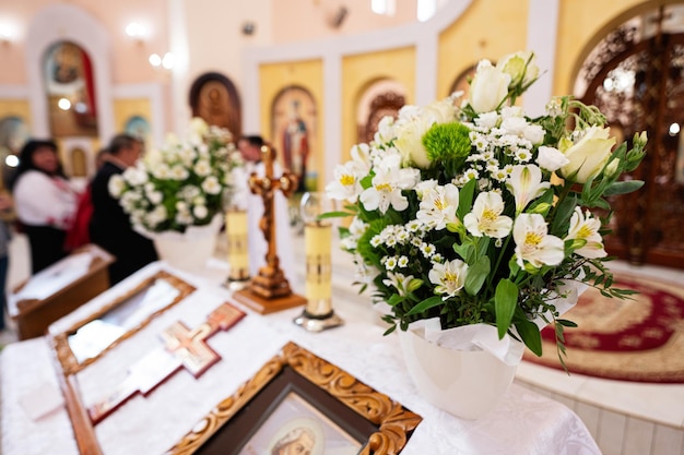
<path id="1" fill-rule="evenodd" d="M 160 260 L 176 268 L 198 271 L 214 253 L 221 219 L 205 226 L 190 226 L 185 232 L 156 232 L 151 236 Z"/>

